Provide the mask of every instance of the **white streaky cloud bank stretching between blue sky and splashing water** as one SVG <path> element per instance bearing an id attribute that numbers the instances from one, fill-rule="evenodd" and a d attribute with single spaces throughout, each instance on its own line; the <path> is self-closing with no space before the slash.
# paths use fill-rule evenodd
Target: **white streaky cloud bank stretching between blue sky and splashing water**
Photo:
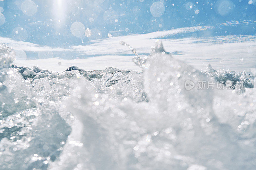
<path id="1" fill-rule="evenodd" d="M 173 57 L 179 58 L 197 69 L 204 69 L 207 63 L 211 63 L 214 69 L 228 68 L 234 71 L 243 71 L 256 67 L 256 35 L 227 35 L 227 36 L 208 36 L 207 38 L 180 38 L 171 39 L 170 35 L 183 33 L 197 33 L 198 31 L 208 31 L 209 29 L 219 28 L 220 26 L 230 26 L 245 24 L 254 21 L 229 21 L 216 26 L 195 26 L 178 28 L 168 31 L 159 31 L 148 34 L 133 34 L 127 36 L 112 37 L 108 39 L 93 40 L 86 46 L 73 46 L 72 49 L 50 48 L 39 46 L 28 42 L 12 41 L 7 38 L 0 38 L 0 43 L 7 41 L 10 46 L 24 51 L 70 51 L 76 53 L 80 59 L 62 60 L 62 66 L 55 66 L 57 60 L 52 60 L 52 66 L 47 63 L 49 59 L 31 60 L 24 64 L 36 64 L 49 70 L 61 70 L 70 65 L 77 65 L 85 70 L 104 69 L 115 67 L 119 69 L 139 70 L 132 63 L 133 57 L 130 49 L 120 45 L 120 41 L 130 44 L 137 49 L 139 55 L 150 53 L 150 47 L 155 44 L 155 40 L 163 38 L 164 48 L 172 52 Z M 87 57 L 87 58 L 81 58 Z M 243 58 L 243 60 L 241 60 Z M 45 62 L 43 62 L 45 60 Z M 19 63 L 17 63 L 19 64 Z"/>

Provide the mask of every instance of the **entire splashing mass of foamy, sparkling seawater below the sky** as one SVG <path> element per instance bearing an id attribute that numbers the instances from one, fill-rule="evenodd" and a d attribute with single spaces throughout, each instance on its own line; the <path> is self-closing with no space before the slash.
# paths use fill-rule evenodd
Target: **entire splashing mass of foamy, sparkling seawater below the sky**
<path id="1" fill-rule="evenodd" d="M 11 49 L 1 48 L 4 169 L 255 167 L 252 75 L 210 66 L 202 73 L 172 58 L 158 41 L 151 55 L 134 58 L 142 73 L 11 67 Z M 186 80 L 225 83 L 230 75 L 246 81 L 243 92 L 185 88 Z"/>

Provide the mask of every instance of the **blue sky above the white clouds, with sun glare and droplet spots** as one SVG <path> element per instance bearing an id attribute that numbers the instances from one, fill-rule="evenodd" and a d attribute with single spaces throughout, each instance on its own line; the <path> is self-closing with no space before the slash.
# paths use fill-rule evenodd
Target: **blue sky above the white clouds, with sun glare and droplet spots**
<path id="1" fill-rule="evenodd" d="M 1 37 L 60 48 L 85 45 L 110 34 L 151 33 L 230 20 L 256 20 L 256 0 L 4 0 L 0 6 L 3 14 L 0 21 L 5 18 L 0 26 Z M 70 31 L 74 22 L 76 36 Z M 85 33 L 80 36 L 86 28 L 91 36 Z M 234 28 L 230 33 L 239 32 Z M 241 30 L 241 34 L 254 33 L 255 27 Z"/>

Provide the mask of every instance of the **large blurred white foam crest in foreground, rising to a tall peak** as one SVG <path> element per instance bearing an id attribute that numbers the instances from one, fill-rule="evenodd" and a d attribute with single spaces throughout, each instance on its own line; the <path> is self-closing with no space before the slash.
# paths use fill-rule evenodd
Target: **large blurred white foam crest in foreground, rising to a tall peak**
<path id="1" fill-rule="evenodd" d="M 254 166 L 255 119 L 251 117 L 255 113 L 251 111 L 255 106 L 249 105 L 255 100 L 255 89 L 248 89 L 248 100 L 232 90 L 224 90 L 222 95 L 216 90 L 187 91 L 185 80 L 209 78 L 172 58 L 160 42 L 143 60 L 143 91 L 148 102 L 110 98 L 108 92 L 97 92 L 95 86 L 81 78 L 70 82 L 74 90 L 65 107 L 78 122 L 72 125 L 72 135 L 52 169 L 249 169 Z M 225 96 L 244 102 L 239 107 Z M 225 106 L 219 107 L 216 100 L 223 98 L 227 104 L 220 102 Z M 244 117 L 239 118 L 244 109 Z M 228 114 L 222 115 L 223 112 Z M 252 122 L 247 123 L 249 120 Z M 235 128 L 241 121 L 243 127 L 238 127 L 246 129 L 245 134 Z"/>

